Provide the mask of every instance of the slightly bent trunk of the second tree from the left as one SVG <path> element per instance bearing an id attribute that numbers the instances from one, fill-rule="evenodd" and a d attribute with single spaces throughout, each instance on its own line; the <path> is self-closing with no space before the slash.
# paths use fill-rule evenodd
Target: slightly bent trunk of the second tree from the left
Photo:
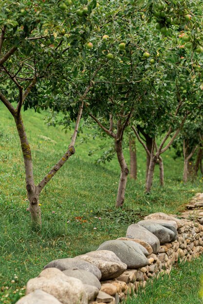
<path id="1" fill-rule="evenodd" d="M 118 162 L 121 168 L 121 175 L 120 181 L 118 186 L 117 192 L 117 199 L 116 199 L 116 207 L 122 207 L 124 204 L 125 199 L 125 190 L 127 184 L 127 177 L 129 174 L 129 169 L 127 167 L 124 155 L 123 155 L 123 147 L 122 147 L 122 140 L 115 140 L 115 151 L 117 154 Z"/>

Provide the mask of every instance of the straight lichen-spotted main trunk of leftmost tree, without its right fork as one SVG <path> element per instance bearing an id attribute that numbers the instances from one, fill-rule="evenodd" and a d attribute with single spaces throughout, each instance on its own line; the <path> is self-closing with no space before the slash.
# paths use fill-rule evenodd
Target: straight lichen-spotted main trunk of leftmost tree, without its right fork
<path id="1" fill-rule="evenodd" d="M 28 200 L 30 202 L 29 211 L 31 213 L 32 224 L 34 227 L 37 228 L 37 226 L 38 227 L 41 226 L 41 211 L 39 206 L 38 189 L 35 186 L 35 182 L 34 182 L 31 149 L 27 139 L 21 114 L 16 113 L 14 118 L 18 130 L 18 135 L 19 135 L 23 159 L 24 159 L 26 189 L 27 189 Z"/>

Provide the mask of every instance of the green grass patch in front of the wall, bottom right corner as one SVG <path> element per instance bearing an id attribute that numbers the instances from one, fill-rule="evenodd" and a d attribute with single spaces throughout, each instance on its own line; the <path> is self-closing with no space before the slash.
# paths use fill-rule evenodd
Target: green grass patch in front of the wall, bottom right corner
<path id="1" fill-rule="evenodd" d="M 165 275 L 148 281 L 137 295 L 128 298 L 125 304 L 198 304 L 203 303 L 199 291 L 203 289 L 203 256 L 191 262 L 181 262 Z"/>

